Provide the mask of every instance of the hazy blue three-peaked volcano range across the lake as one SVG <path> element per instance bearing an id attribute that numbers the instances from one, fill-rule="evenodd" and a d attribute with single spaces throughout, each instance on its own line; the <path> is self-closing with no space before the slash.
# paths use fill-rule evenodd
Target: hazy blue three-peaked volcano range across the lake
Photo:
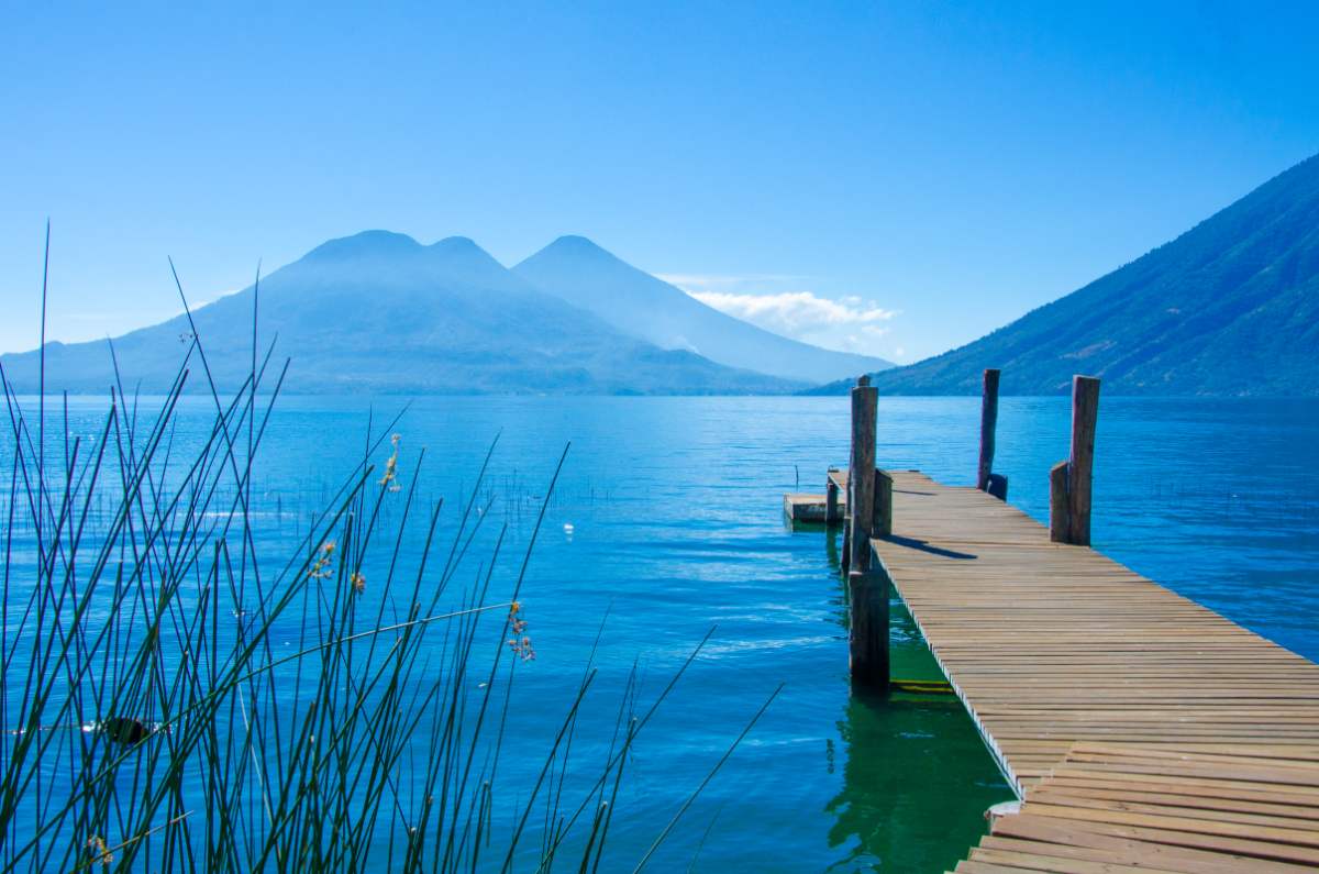
<path id="1" fill-rule="evenodd" d="M 551 289 L 533 281 L 536 265 L 554 280 Z M 580 271 L 578 283 L 568 268 Z M 636 309 L 630 317 L 592 305 L 609 275 Z M 288 387 L 295 392 L 776 393 L 864 371 L 861 362 L 882 364 L 710 310 L 580 238 L 549 246 L 516 272 L 467 238 L 422 246 L 365 231 L 330 240 L 264 277 L 260 289 L 194 312 L 222 387 L 248 374 L 253 298 L 260 342 L 277 338 L 277 356 L 293 359 Z M 699 343 L 637 329 L 650 319 L 674 331 L 687 319 L 686 333 Z M 115 338 L 125 386 L 168 388 L 191 335 L 181 316 Z M 834 370 L 819 368 L 830 360 Z M 0 364 L 17 389 L 37 388 L 36 351 L 5 355 Z M 47 345 L 47 388 L 100 392 L 113 382 L 108 343 Z"/>

